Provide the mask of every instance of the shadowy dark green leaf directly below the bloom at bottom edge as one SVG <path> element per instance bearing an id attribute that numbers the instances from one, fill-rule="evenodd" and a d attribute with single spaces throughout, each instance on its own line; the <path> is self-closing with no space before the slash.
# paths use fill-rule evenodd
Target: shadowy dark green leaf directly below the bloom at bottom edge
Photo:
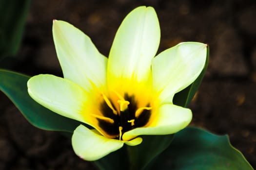
<path id="1" fill-rule="evenodd" d="M 125 145 L 120 150 L 95 161 L 95 165 L 99 170 L 144 170 L 170 145 L 174 135 L 141 137 L 141 144 Z"/>

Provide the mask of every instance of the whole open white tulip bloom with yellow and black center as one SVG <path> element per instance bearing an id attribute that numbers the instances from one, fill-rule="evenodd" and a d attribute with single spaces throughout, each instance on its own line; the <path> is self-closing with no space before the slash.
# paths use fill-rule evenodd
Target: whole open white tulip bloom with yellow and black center
<path id="1" fill-rule="evenodd" d="M 59 115 L 94 127 L 74 131 L 72 146 L 81 158 L 97 160 L 124 144 L 140 144 L 140 135 L 173 134 L 190 123 L 191 110 L 172 100 L 200 74 L 207 45 L 180 43 L 154 57 L 160 28 L 152 7 L 125 17 L 108 58 L 67 22 L 54 20 L 53 37 L 64 78 L 34 76 L 28 92 Z"/>

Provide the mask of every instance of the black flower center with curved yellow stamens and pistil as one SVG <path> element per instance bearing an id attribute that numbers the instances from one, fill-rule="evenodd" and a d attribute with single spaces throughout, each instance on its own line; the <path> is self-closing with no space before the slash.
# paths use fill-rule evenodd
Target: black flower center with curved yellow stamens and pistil
<path id="1" fill-rule="evenodd" d="M 144 107 L 138 107 L 138 101 L 134 96 L 124 94 L 124 97 L 117 95 L 117 101 L 111 101 L 102 94 L 103 102 L 100 104 L 100 111 L 103 116 L 92 115 L 98 120 L 98 126 L 109 136 L 115 136 L 122 140 L 122 135 L 132 129 L 145 126 L 151 116 L 149 103 Z M 114 105 L 113 103 L 117 104 Z"/>

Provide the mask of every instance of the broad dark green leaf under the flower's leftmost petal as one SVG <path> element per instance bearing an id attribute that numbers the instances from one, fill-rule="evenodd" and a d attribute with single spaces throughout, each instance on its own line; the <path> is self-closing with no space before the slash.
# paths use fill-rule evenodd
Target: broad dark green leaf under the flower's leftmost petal
<path id="1" fill-rule="evenodd" d="M 35 102 L 27 92 L 29 78 L 19 73 L 0 69 L 0 90 L 8 96 L 32 125 L 44 130 L 73 133 L 81 123 L 60 116 Z"/>

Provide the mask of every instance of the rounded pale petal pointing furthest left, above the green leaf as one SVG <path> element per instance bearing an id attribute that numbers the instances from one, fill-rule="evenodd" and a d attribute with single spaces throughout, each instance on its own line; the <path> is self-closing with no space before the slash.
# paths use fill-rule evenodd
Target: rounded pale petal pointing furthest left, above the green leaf
<path id="1" fill-rule="evenodd" d="M 84 114 L 85 104 L 90 105 L 90 100 L 79 85 L 54 75 L 40 74 L 30 78 L 27 86 L 31 98 L 44 107 L 67 118 L 91 122 Z"/>

